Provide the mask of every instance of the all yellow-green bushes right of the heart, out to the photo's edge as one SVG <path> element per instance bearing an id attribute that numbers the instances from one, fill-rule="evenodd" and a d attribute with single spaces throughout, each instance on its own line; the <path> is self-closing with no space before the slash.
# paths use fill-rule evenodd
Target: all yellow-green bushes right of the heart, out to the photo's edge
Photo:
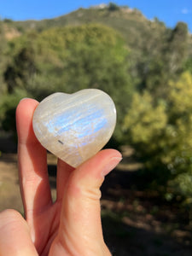
<path id="1" fill-rule="evenodd" d="M 165 195 L 192 197 L 192 75 L 183 73 L 167 86 L 166 100 L 148 92 L 133 96 L 125 116 L 125 136 L 137 149 L 147 175 Z M 165 186 L 166 184 L 166 186 Z"/>

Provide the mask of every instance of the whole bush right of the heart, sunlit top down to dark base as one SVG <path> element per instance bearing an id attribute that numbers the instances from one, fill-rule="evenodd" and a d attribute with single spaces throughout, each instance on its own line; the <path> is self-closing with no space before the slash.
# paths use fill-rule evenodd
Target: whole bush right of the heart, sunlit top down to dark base
<path id="1" fill-rule="evenodd" d="M 136 149 L 137 159 L 143 162 L 146 184 L 154 181 L 158 185 L 165 184 L 169 176 L 162 162 L 167 122 L 165 102 L 155 102 L 148 91 L 133 95 L 131 107 L 125 114 L 123 131 L 126 144 Z"/>

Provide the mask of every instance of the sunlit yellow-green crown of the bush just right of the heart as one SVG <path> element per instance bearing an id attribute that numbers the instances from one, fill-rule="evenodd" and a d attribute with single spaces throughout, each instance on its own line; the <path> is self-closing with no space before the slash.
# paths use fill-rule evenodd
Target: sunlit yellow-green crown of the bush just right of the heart
<path id="1" fill-rule="evenodd" d="M 125 115 L 124 131 L 134 145 L 153 142 L 166 127 L 165 105 L 161 102 L 154 107 L 152 96 L 145 91 L 143 95 L 136 93 L 131 108 Z M 154 148 L 155 145 L 150 144 Z M 143 147 L 143 151 L 145 147 Z M 149 150 L 149 148 L 148 148 Z"/>

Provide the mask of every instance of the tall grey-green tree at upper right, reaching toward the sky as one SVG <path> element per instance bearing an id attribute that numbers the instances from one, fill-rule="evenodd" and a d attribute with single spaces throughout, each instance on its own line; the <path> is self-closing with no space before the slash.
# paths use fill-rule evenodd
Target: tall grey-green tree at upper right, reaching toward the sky
<path id="1" fill-rule="evenodd" d="M 151 23 L 153 36 L 146 38 L 142 58 L 137 61 L 138 76 L 141 76 L 139 89 L 164 97 L 168 81 L 177 79 L 183 72 L 189 51 L 189 33 L 183 22 L 178 22 L 171 30 L 166 29 L 163 23 L 154 21 Z"/>

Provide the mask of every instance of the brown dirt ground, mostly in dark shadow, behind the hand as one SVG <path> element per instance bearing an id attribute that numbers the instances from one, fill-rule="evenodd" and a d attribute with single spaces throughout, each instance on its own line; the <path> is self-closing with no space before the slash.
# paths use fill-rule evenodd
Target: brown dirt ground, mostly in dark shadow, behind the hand
<path id="1" fill-rule="evenodd" d="M 131 149 L 130 149 L 131 150 Z M 102 225 L 105 240 L 117 256 L 191 256 L 192 226 L 177 207 L 161 204 L 155 195 L 134 187 L 138 164 L 131 152 L 111 172 L 102 185 Z M 55 157 L 49 155 L 49 181 L 55 197 Z M 14 208 L 23 213 L 17 173 L 17 154 L 0 156 L 0 211 Z"/>

